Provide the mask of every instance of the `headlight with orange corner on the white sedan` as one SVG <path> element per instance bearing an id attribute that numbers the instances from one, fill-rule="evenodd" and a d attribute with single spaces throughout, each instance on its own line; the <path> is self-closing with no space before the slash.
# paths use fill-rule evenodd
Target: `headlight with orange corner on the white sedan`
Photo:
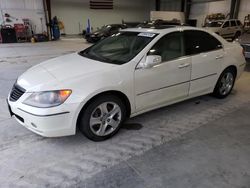
<path id="1" fill-rule="evenodd" d="M 64 103 L 71 93 L 71 90 L 35 92 L 23 103 L 38 108 L 50 108 Z"/>

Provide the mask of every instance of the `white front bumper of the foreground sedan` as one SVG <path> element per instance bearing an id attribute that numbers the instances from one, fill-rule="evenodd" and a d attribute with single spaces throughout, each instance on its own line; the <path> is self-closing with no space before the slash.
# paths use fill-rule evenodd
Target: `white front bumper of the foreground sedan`
<path id="1" fill-rule="evenodd" d="M 24 127 L 44 137 L 74 135 L 76 132 L 77 104 L 62 104 L 54 108 L 35 108 L 24 105 L 20 100 L 7 103 L 11 116 Z"/>

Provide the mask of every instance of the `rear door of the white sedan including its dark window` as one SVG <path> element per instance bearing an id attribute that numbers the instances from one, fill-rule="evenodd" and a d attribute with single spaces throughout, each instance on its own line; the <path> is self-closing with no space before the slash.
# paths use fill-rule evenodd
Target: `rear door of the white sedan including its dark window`
<path id="1" fill-rule="evenodd" d="M 222 44 L 204 31 L 184 31 L 186 55 L 192 57 L 189 95 L 211 92 L 224 58 Z"/>

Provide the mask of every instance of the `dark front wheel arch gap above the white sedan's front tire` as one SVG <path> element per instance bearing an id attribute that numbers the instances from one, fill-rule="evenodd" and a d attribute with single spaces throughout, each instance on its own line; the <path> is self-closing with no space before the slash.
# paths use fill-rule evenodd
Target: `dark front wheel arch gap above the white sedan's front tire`
<path id="1" fill-rule="evenodd" d="M 98 93 L 94 96 L 92 96 L 81 108 L 80 112 L 78 113 L 77 116 L 77 122 L 76 122 L 76 126 L 78 126 L 79 124 L 79 119 L 81 117 L 81 114 L 84 112 L 84 110 L 87 108 L 87 106 L 93 101 L 95 100 L 97 97 L 100 97 L 102 95 L 114 95 L 117 96 L 119 99 L 122 100 L 122 102 L 124 103 L 125 107 L 126 107 L 126 117 L 129 117 L 131 114 L 131 104 L 129 101 L 129 98 L 121 91 L 117 91 L 117 90 L 108 90 L 108 91 L 103 91 L 101 93 Z"/>

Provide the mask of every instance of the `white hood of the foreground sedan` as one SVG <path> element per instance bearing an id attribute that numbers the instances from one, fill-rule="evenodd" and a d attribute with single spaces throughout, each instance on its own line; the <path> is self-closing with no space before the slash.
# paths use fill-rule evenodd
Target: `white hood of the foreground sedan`
<path id="1" fill-rule="evenodd" d="M 77 53 L 47 60 L 27 70 L 18 78 L 18 85 L 26 90 L 42 90 L 54 88 L 58 83 L 83 78 L 100 71 L 104 72 L 117 66 L 91 60 Z"/>

